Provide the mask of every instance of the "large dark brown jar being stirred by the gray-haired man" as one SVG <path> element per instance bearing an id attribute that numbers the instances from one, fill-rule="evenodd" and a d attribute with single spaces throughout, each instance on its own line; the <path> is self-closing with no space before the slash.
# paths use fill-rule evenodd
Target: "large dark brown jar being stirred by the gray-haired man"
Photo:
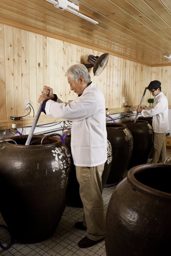
<path id="1" fill-rule="evenodd" d="M 30 145 L 27 136 L 0 144 L 0 212 L 22 243 L 52 236 L 67 202 L 71 152 L 61 139 L 43 137 L 33 135 Z"/>

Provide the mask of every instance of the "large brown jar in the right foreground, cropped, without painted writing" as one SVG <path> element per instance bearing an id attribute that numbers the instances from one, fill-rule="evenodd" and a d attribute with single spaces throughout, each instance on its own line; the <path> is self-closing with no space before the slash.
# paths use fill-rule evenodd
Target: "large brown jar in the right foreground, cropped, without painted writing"
<path id="1" fill-rule="evenodd" d="M 109 200 L 107 256 L 171 255 L 171 164 L 129 170 Z"/>

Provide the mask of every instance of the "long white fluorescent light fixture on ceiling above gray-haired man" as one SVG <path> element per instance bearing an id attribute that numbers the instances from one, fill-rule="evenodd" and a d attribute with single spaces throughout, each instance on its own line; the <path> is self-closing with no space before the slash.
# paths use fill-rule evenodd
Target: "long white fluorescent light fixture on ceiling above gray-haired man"
<path id="1" fill-rule="evenodd" d="M 68 0 L 45 0 L 45 1 L 54 4 L 54 6 L 60 10 L 66 10 L 70 13 L 73 13 L 73 14 L 95 24 L 95 25 L 98 24 L 97 21 L 79 13 L 79 6 L 76 5 L 75 3 L 72 3 Z"/>

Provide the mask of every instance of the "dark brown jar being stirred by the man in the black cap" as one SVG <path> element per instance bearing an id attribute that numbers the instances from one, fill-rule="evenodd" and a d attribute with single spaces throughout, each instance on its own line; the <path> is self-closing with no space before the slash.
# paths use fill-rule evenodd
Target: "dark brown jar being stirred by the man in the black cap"
<path id="1" fill-rule="evenodd" d="M 136 123 L 134 120 L 122 120 L 122 123 L 131 131 L 134 140 L 132 157 L 127 169 L 147 163 L 153 147 L 152 126 L 147 121 L 139 119 L 136 120 Z"/>

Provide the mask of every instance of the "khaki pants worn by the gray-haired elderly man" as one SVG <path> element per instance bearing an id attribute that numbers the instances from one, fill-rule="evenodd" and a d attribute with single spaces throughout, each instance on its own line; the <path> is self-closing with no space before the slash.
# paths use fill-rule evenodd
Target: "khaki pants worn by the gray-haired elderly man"
<path id="1" fill-rule="evenodd" d="M 87 227 L 87 237 L 99 240 L 105 235 L 105 216 L 102 198 L 102 173 L 104 164 L 95 167 L 76 166 L 76 178 L 80 184 L 83 203 L 83 225 Z"/>

